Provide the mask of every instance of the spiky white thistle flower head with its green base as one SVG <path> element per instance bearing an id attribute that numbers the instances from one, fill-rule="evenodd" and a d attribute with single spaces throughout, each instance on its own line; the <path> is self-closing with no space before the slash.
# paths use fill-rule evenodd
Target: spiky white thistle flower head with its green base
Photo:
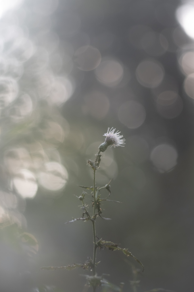
<path id="1" fill-rule="evenodd" d="M 119 135 L 120 132 L 115 132 L 116 129 L 113 129 L 113 128 L 108 128 L 108 131 L 107 133 L 105 133 L 103 136 L 106 136 L 106 139 L 105 139 L 105 142 L 102 143 L 100 146 L 99 146 L 99 150 L 101 152 L 104 152 L 108 146 L 113 146 L 113 147 L 116 147 L 116 146 L 122 146 L 124 147 L 123 144 L 125 139 L 122 139 L 123 135 Z"/>

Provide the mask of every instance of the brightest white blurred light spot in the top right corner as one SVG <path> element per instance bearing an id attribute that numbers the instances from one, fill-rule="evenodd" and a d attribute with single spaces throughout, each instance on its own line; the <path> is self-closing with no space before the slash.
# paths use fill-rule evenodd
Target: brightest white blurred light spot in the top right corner
<path id="1" fill-rule="evenodd" d="M 180 6 L 176 15 L 186 34 L 194 39 L 194 5 L 185 4 Z"/>

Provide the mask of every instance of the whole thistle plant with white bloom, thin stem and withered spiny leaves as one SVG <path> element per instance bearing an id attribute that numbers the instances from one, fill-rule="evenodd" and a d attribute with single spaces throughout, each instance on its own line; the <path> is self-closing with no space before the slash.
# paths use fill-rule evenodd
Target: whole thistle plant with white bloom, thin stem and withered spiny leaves
<path id="1" fill-rule="evenodd" d="M 93 185 L 90 187 L 87 186 L 79 186 L 81 187 L 84 191 L 82 194 L 78 197 L 76 196 L 80 201 L 81 201 L 81 209 L 83 211 L 82 216 L 78 218 L 73 218 L 72 220 L 66 222 L 66 223 L 72 223 L 76 220 L 83 220 L 84 222 L 90 221 L 92 223 L 92 231 L 93 231 L 93 245 L 94 245 L 94 250 L 93 250 L 93 258 L 88 258 L 88 260 L 85 261 L 83 264 L 73 264 L 73 265 L 67 265 L 67 266 L 61 266 L 61 267 L 41 267 L 41 270 L 58 270 L 58 269 L 67 269 L 67 270 L 73 270 L 75 268 L 81 267 L 84 270 L 90 270 L 92 271 L 92 275 L 86 275 L 86 286 L 92 287 L 93 292 L 96 291 L 97 287 L 101 287 L 102 291 L 122 291 L 122 287 L 117 287 L 114 286 L 113 284 L 109 283 L 106 279 L 104 279 L 104 276 L 98 276 L 97 275 L 97 249 L 103 249 L 107 248 L 108 250 L 111 251 L 122 251 L 126 256 L 130 256 L 134 258 L 143 268 L 143 264 L 138 260 L 135 256 L 132 255 L 130 251 L 128 251 L 127 248 L 121 248 L 118 244 L 113 243 L 112 241 L 106 241 L 99 239 L 96 236 L 96 229 L 95 229 L 95 224 L 97 218 L 101 218 L 104 220 L 109 220 L 109 218 L 105 218 L 102 216 L 102 209 L 101 209 L 101 202 L 102 201 L 111 201 L 106 198 L 101 198 L 101 193 L 100 191 L 102 189 L 105 189 L 108 192 L 108 196 L 111 194 L 111 181 L 109 181 L 106 185 L 102 187 L 97 187 L 96 186 L 96 172 L 98 171 L 100 167 L 100 162 L 101 162 L 101 152 L 105 152 L 108 146 L 122 146 L 124 147 L 124 142 L 125 139 L 123 138 L 123 135 L 120 135 L 120 132 L 115 132 L 114 128 L 108 128 L 107 133 L 104 134 L 105 141 L 101 145 L 99 145 L 99 150 L 96 154 L 95 161 L 92 161 L 90 159 L 87 160 L 87 164 L 92 168 L 93 171 Z M 84 200 L 87 195 L 86 190 L 89 190 L 91 192 L 91 200 L 92 204 L 89 206 L 85 204 Z M 118 201 L 113 201 L 113 202 L 118 202 Z M 119 202 L 118 202 L 119 203 Z M 93 208 L 91 211 L 90 209 Z"/>

